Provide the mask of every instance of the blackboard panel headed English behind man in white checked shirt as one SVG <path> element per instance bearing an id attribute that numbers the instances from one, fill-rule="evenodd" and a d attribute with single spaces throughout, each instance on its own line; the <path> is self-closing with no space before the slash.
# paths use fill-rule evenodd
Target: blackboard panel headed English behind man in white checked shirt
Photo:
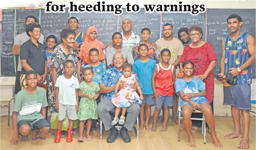
<path id="1" fill-rule="evenodd" d="M 134 34 L 141 36 L 141 30 L 147 27 L 151 31 L 150 42 L 155 42 L 160 38 L 161 13 L 146 13 L 144 9 L 141 9 L 138 13 L 127 13 L 123 9 L 123 14 L 119 16 L 118 31 L 120 33 L 122 32 L 122 21 L 125 18 L 132 21 Z"/>

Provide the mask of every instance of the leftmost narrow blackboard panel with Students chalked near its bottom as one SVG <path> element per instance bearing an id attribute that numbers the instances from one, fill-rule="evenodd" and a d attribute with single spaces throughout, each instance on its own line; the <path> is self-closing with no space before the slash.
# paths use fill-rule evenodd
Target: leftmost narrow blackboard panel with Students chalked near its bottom
<path id="1" fill-rule="evenodd" d="M 14 43 L 14 9 L 2 10 L 1 75 L 16 75 L 12 47 Z"/>

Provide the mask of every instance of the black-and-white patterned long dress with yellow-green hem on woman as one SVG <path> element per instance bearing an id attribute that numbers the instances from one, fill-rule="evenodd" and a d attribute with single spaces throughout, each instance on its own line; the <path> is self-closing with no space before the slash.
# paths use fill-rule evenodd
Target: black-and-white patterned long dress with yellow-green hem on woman
<path id="1" fill-rule="evenodd" d="M 60 75 L 64 74 L 63 71 L 63 63 L 66 60 L 72 60 L 75 64 L 75 71 L 73 72 L 73 76 L 77 77 L 77 69 L 76 69 L 76 62 L 78 61 L 75 52 L 73 51 L 73 48 L 70 48 L 70 54 L 65 54 L 63 51 L 63 48 L 58 45 L 54 49 L 51 57 L 51 64 L 50 68 L 55 67 L 57 68 L 57 78 Z M 48 86 L 48 103 L 49 103 L 49 108 L 51 114 L 51 120 L 50 120 L 50 128 L 51 129 L 57 129 L 57 124 L 58 124 L 58 112 L 59 110 L 55 108 L 55 96 L 54 96 L 54 86 L 53 86 L 53 81 L 52 81 L 52 72 L 49 75 L 49 86 Z M 68 129 L 69 121 L 68 117 L 64 119 L 62 123 L 62 130 L 66 131 Z M 74 121 L 73 128 L 78 128 L 79 127 L 79 120 Z"/>

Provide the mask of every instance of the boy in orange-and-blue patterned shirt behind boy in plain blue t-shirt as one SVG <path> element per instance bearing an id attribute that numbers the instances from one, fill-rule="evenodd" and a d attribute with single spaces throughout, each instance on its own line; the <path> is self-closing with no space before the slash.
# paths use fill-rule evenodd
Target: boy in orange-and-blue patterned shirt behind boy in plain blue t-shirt
<path id="1" fill-rule="evenodd" d="M 156 62 L 156 64 L 159 62 L 157 48 L 155 47 L 154 43 L 149 42 L 150 36 L 151 32 L 149 28 L 143 28 L 141 30 L 142 42 L 135 44 L 132 48 L 132 57 L 134 58 L 134 61 L 140 59 L 140 44 L 146 44 L 148 46 L 148 58 L 153 59 Z"/>

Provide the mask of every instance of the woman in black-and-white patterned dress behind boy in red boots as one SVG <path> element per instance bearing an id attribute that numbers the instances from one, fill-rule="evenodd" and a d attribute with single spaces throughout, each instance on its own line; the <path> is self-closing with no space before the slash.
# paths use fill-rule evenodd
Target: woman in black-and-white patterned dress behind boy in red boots
<path id="1" fill-rule="evenodd" d="M 64 74 L 63 71 L 63 62 L 66 60 L 72 60 L 75 64 L 75 71 L 73 72 L 73 76 L 77 77 L 77 70 L 76 70 L 76 62 L 78 61 L 75 52 L 73 50 L 73 46 L 75 43 L 76 33 L 73 29 L 67 28 L 63 29 L 60 33 L 60 38 L 62 43 L 55 47 L 52 57 L 51 57 L 51 73 L 49 75 L 49 88 L 48 88 L 48 101 L 51 114 L 51 121 L 50 121 L 50 128 L 57 129 L 58 124 L 58 109 L 55 108 L 55 93 L 54 93 L 54 86 L 56 83 L 57 78 L 60 75 Z M 68 117 L 63 121 L 62 124 L 62 131 L 66 131 L 68 129 L 69 121 Z M 79 120 L 74 121 L 73 128 L 79 127 Z M 73 134 L 76 134 L 76 131 L 72 131 Z"/>

